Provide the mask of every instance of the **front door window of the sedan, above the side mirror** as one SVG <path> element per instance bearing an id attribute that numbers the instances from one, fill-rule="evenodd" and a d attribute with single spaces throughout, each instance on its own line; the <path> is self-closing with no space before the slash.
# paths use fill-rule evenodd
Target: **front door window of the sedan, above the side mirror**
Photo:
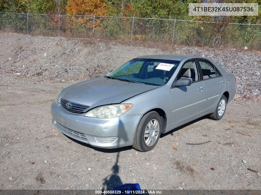
<path id="1" fill-rule="evenodd" d="M 196 68 L 196 62 L 190 61 L 183 65 L 179 75 L 178 79 L 181 78 L 190 78 L 192 79 L 192 82 L 198 81 L 198 74 L 197 74 L 197 68 Z"/>

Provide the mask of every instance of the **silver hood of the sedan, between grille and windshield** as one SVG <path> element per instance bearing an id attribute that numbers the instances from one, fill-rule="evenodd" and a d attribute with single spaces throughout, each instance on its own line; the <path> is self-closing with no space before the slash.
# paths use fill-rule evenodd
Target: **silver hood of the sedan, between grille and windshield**
<path id="1" fill-rule="evenodd" d="M 99 77 L 71 85 L 61 91 L 60 97 L 90 108 L 120 103 L 135 95 L 160 86 L 129 83 L 116 79 Z"/>

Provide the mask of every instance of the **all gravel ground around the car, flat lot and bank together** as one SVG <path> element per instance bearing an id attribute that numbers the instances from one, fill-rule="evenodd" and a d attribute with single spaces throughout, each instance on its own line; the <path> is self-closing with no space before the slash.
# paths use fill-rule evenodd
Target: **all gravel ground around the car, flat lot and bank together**
<path id="1" fill-rule="evenodd" d="M 0 33 L 0 51 L 0 189 L 111 189 L 136 182 L 142 189 L 260 189 L 260 54 L 7 33 Z M 63 87 L 138 55 L 163 53 L 209 57 L 237 76 L 238 95 L 222 120 L 202 117 L 162 135 L 145 153 L 93 148 L 51 123 L 50 104 Z M 205 141 L 211 142 L 186 144 Z"/>

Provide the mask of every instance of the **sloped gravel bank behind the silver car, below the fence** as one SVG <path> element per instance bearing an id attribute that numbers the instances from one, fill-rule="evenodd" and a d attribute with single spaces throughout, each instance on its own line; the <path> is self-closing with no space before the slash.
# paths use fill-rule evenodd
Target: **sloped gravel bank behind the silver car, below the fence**
<path id="1" fill-rule="evenodd" d="M 145 45 L 145 43 L 143 43 Z M 260 52 L 173 46 L 119 44 L 99 39 L 65 39 L 0 32 L 0 74 L 83 80 L 105 75 L 124 62 L 151 54 L 199 55 L 213 59 L 237 78 L 236 97 L 261 100 Z M 154 45 L 154 47 L 162 47 Z M 164 47 L 164 46 L 163 46 Z M 166 46 L 165 46 L 166 47 Z"/>

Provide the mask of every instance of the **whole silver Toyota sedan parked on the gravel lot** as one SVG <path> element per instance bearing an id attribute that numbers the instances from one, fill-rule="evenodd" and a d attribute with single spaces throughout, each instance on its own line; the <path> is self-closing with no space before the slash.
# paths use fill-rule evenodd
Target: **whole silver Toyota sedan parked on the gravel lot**
<path id="1" fill-rule="evenodd" d="M 220 120 L 235 76 L 199 56 L 134 58 L 104 77 L 71 85 L 51 105 L 63 134 L 99 148 L 155 147 L 161 133 L 208 115 Z"/>

